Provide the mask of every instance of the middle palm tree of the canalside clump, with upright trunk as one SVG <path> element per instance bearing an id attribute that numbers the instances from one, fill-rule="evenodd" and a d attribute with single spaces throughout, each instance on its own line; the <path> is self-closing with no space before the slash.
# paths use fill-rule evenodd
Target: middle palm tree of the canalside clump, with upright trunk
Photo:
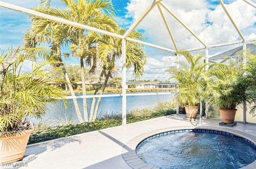
<path id="1" fill-rule="evenodd" d="M 61 0 L 66 4 L 65 10 L 58 8 L 49 8 L 51 0 L 42 0 L 43 6 L 37 8 L 39 12 L 58 16 L 66 20 L 74 21 L 80 24 L 93 26 L 113 32 L 117 27 L 116 22 L 111 18 L 114 15 L 114 8 L 110 1 L 104 0 Z M 55 23 L 56 26 L 60 24 Z M 96 69 L 97 58 L 94 55 L 94 41 L 90 39 L 90 32 L 81 28 L 69 26 L 69 42 L 72 44 L 71 52 L 73 56 L 80 58 L 81 78 L 83 95 L 86 95 L 85 76 L 84 76 L 84 60 L 86 64 L 91 66 L 90 73 L 94 73 Z M 88 121 L 87 103 L 83 100 L 84 121 Z"/>

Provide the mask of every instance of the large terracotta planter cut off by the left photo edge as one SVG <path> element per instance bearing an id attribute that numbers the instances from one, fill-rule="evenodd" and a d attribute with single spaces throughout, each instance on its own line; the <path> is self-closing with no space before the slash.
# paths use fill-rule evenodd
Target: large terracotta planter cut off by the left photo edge
<path id="1" fill-rule="evenodd" d="M 12 163 L 23 158 L 30 133 L 34 129 L 0 136 L 0 164 Z"/>

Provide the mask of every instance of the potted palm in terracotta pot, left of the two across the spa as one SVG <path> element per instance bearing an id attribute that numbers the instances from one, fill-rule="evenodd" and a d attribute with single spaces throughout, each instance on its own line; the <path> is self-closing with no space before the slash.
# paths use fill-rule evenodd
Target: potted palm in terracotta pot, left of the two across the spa
<path id="1" fill-rule="evenodd" d="M 177 82 L 178 90 L 174 98 L 178 100 L 181 107 L 185 107 L 186 116 L 196 118 L 198 103 L 200 103 L 202 91 L 206 86 L 204 80 L 205 56 L 201 53 L 192 55 L 187 50 L 179 50 L 174 54 L 184 56 L 185 60 L 175 62 L 178 67 L 172 66 L 165 72 L 172 74 L 170 79 Z"/>

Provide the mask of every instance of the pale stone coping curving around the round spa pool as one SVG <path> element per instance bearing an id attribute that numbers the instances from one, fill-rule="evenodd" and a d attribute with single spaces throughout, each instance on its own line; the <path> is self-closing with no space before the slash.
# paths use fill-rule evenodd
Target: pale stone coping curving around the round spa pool
<path id="1" fill-rule="evenodd" d="M 186 125 L 186 126 L 176 126 L 176 127 L 166 127 L 161 129 L 155 129 L 152 131 L 148 131 L 146 133 L 142 133 L 130 141 L 128 141 L 123 147 L 122 147 L 122 158 L 126 162 L 127 165 L 129 165 L 132 169 L 157 169 L 156 167 L 153 167 L 151 165 L 148 165 L 144 163 L 137 155 L 136 155 L 136 147 L 137 145 L 142 142 L 144 139 L 157 135 L 160 133 L 165 133 L 168 131 L 178 131 L 178 130 L 189 130 L 189 129 L 204 129 L 205 132 L 209 131 L 221 131 L 230 133 L 233 135 L 236 135 L 238 137 L 242 137 L 248 141 L 250 141 L 251 144 L 256 145 L 256 136 L 250 135 L 248 133 L 244 133 L 242 131 L 234 130 L 232 128 L 224 128 L 224 127 L 214 127 L 214 126 L 193 126 L 193 125 Z M 241 169 L 256 169 L 256 160 L 249 165 L 242 167 Z"/>

